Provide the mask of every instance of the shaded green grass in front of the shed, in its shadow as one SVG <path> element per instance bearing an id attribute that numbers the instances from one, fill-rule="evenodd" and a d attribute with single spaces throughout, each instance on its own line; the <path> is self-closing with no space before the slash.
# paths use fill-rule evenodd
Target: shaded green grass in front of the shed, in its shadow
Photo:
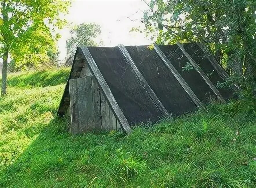
<path id="1" fill-rule="evenodd" d="M 255 187 L 255 115 L 245 114 L 242 101 L 217 104 L 125 138 L 71 136 L 55 117 L 0 169 L 0 187 Z"/>

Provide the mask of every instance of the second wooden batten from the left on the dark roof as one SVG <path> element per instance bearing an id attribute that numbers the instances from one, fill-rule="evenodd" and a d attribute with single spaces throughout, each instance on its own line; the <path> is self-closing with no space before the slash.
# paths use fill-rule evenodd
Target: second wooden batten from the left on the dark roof
<path id="1" fill-rule="evenodd" d="M 131 59 L 131 56 L 130 56 L 129 52 L 126 50 L 125 46 L 122 45 L 122 44 L 119 44 L 118 47 L 119 47 L 123 57 L 125 58 L 126 62 L 130 65 L 130 67 L 132 68 L 136 77 L 138 78 L 138 80 L 142 84 L 142 87 L 144 87 L 144 89 L 147 91 L 147 93 L 149 94 L 149 96 L 153 100 L 156 107 L 160 110 L 160 112 L 162 113 L 163 116 L 170 117 L 170 114 L 168 113 L 166 108 L 163 106 L 161 101 L 158 99 L 158 97 L 156 96 L 154 91 L 151 89 L 151 87 L 147 83 L 146 79 L 142 76 L 142 74 L 140 73 L 140 71 L 136 67 L 134 61 Z"/>

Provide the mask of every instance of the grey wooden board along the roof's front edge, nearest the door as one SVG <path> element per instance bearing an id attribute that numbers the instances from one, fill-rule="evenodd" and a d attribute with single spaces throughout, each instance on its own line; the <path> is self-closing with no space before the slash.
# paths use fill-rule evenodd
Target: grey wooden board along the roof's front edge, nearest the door
<path id="1" fill-rule="evenodd" d="M 109 105 L 111 106 L 111 109 L 113 110 L 116 119 L 119 121 L 121 128 L 129 134 L 131 132 L 131 128 L 127 122 L 127 119 L 125 118 L 122 110 L 118 106 L 116 99 L 114 98 L 111 90 L 109 89 L 106 80 L 102 76 L 98 66 L 96 65 L 94 59 L 92 58 L 91 53 L 89 52 L 89 49 L 87 47 L 81 47 L 81 51 L 83 52 L 85 58 L 87 59 L 87 62 L 89 64 L 89 68 L 91 69 L 93 75 L 95 76 L 96 80 L 98 81 L 101 89 L 103 90 L 105 97 L 109 101 Z"/>

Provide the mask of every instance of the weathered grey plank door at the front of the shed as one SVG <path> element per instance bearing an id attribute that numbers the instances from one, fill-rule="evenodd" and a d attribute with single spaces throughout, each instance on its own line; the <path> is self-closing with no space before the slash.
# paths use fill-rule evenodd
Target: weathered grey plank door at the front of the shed
<path id="1" fill-rule="evenodd" d="M 100 94 L 93 77 L 69 80 L 71 133 L 101 130 Z"/>

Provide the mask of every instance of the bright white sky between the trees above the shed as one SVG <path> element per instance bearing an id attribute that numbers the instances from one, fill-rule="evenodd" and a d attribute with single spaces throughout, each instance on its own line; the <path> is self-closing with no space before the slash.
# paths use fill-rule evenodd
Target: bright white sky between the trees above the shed
<path id="1" fill-rule="evenodd" d="M 143 27 L 140 20 L 143 13 L 139 10 L 146 9 L 148 6 L 141 0 L 73 0 L 65 19 L 71 25 L 83 22 L 100 25 L 102 32 L 96 42 L 101 40 L 103 46 L 148 45 L 151 41 L 146 40 L 143 33 L 129 33 L 132 27 Z M 61 59 L 65 58 L 69 29 L 70 27 L 65 27 L 60 31 L 62 37 L 58 41 L 58 47 Z"/>

